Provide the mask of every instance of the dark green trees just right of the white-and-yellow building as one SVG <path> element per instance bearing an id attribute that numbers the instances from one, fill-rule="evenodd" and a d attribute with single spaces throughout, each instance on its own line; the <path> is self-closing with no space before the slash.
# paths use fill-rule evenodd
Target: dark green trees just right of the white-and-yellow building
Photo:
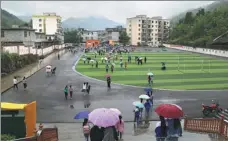
<path id="1" fill-rule="evenodd" d="M 81 37 L 80 32 L 76 29 L 74 30 L 66 30 L 64 32 L 64 42 L 65 43 L 81 43 L 83 38 Z"/>

